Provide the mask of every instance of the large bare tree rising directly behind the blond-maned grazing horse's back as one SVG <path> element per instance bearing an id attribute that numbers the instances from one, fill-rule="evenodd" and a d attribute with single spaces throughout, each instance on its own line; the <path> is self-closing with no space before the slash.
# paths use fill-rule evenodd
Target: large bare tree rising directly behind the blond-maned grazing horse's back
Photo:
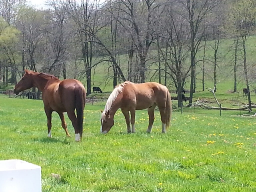
<path id="1" fill-rule="evenodd" d="M 120 18 L 116 19 L 130 34 L 140 58 L 140 82 L 146 80 L 146 59 L 149 48 L 156 38 L 154 25 L 160 6 L 161 3 L 156 0 L 116 0 L 116 9 L 121 12 Z"/>

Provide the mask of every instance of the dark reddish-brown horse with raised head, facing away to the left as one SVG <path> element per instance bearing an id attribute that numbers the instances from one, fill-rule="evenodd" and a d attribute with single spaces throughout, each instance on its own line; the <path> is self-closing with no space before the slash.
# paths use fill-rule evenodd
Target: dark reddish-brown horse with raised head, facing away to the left
<path id="1" fill-rule="evenodd" d="M 44 111 L 47 116 L 48 137 L 52 137 L 53 111 L 59 114 L 61 125 L 66 135 L 70 136 L 63 114 L 63 112 L 67 112 L 75 129 L 75 140 L 80 141 L 83 132 L 84 106 L 86 102 L 86 91 L 83 84 L 75 79 L 59 80 L 50 74 L 25 70 L 24 76 L 14 88 L 14 93 L 18 94 L 33 86 L 42 92 Z"/>

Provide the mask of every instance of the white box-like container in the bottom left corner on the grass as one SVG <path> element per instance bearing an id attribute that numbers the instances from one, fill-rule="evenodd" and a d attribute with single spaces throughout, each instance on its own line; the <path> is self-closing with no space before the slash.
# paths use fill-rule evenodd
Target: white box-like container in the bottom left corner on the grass
<path id="1" fill-rule="evenodd" d="M 42 192 L 41 167 L 16 159 L 0 161 L 0 192 Z"/>

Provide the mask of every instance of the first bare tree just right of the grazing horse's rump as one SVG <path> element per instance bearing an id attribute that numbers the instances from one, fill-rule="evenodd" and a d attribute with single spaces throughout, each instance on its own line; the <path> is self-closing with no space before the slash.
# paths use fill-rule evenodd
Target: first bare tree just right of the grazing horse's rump
<path id="1" fill-rule="evenodd" d="M 185 64 L 189 56 L 187 49 L 188 34 L 186 23 L 182 16 L 175 14 L 175 6 L 166 8 L 166 19 L 163 22 L 162 31 L 164 31 L 166 40 L 166 52 L 160 47 L 158 50 L 162 53 L 162 58 L 166 63 L 168 75 L 172 78 L 178 92 L 178 106 L 182 105 L 182 90 L 191 66 Z"/>

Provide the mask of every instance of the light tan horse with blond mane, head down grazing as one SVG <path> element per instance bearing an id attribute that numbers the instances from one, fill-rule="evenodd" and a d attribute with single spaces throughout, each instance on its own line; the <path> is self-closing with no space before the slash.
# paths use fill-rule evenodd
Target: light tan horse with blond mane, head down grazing
<path id="1" fill-rule="evenodd" d="M 154 109 L 156 106 L 158 106 L 161 115 L 162 133 L 165 133 L 170 124 L 172 112 L 168 88 L 156 82 L 135 84 L 126 81 L 116 86 L 110 94 L 100 119 L 100 132 L 104 134 L 109 132 L 114 125 L 114 115 L 119 108 L 124 114 L 128 133 L 131 132 L 130 122 L 132 132 L 135 132 L 135 111 L 148 108 L 149 124 L 147 132 L 150 133 L 155 119 Z"/>

